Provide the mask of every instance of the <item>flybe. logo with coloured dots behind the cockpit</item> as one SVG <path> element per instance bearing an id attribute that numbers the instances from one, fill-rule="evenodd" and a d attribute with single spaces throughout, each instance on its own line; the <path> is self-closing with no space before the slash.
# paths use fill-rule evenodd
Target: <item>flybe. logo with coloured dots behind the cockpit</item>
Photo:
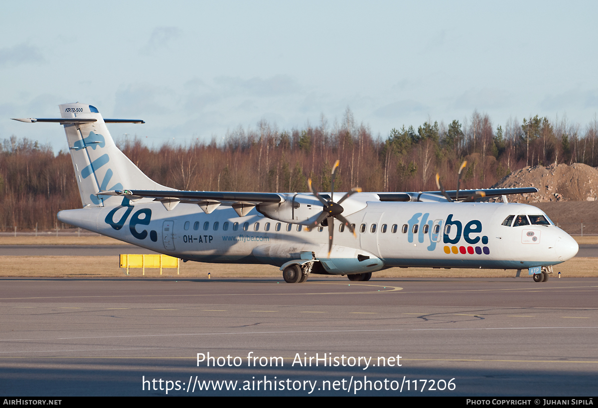
<path id="1" fill-rule="evenodd" d="M 442 240 L 444 244 L 453 244 L 452 246 L 444 246 L 444 252 L 447 254 L 490 254 L 490 249 L 486 246 L 488 237 L 486 235 L 480 236 L 482 232 L 480 220 L 471 220 L 463 226 L 462 222 L 453 219 L 454 214 L 449 214 L 446 221 L 442 219 L 432 220 L 429 219 L 429 216 L 429 213 L 416 213 L 408 220 L 408 242 L 413 243 L 417 235 L 417 241 L 423 243 L 426 235 L 428 235 L 428 251 L 434 251 L 437 243 Z M 461 238 L 468 245 L 457 246 Z M 483 246 L 480 244 L 483 244 Z"/>

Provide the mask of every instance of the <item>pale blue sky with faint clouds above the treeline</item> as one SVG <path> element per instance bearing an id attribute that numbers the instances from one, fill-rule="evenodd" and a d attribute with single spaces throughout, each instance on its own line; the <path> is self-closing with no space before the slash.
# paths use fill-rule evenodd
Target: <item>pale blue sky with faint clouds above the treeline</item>
<path id="1" fill-rule="evenodd" d="M 474 109 L 495 127 L 530 115 L 585 127 L 598 112 L 598 2 L 3 2 L 0 140 L 66 149 L 59 117 L 89 103 L 115 139 L 222 140 L 279 129 L 402 125 Z"/>

